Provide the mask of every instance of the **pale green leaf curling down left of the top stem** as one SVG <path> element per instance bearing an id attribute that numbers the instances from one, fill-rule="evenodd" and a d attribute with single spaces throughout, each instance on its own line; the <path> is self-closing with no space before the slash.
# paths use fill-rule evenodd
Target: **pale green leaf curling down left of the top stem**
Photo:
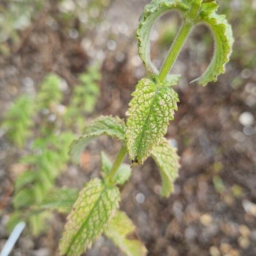
<path id="1" fill-rule="evenodd" d="M 154 21 L 168 11 L 179 10 L 184 13 L 188 9 L 189 6 L 181 0 L 153 0 L 145 6 L 137 29 L 137 39 L 140 58 L 151 73 L 159 73 L 150 60 L 150 34 Z"/>

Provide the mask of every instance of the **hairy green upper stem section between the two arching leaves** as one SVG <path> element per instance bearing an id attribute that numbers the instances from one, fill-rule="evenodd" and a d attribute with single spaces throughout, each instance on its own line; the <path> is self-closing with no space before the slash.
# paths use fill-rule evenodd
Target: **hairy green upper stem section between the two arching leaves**
<path id="1" fill-rule="evenodd" d="M 189 33 L 194 26 L 195 19 L 198 15 L 198 11 L 201 6 L 202 0 L 195 0 L 195 2 L 192 4 L 191 9 L 189 10 L 186 20 L 184 21 L 183 25 L 180 28 L 180 31 L 175 38 L 175 41 L 172 44 L 172 47 L 169 51 L 169 54 L 162 66 L 162 69 L 158 75 L 158 81 L 163 82 L 166 79 L 166 76 L 169 73 L 169 70 L 172 68 L 172 65 L 174 64 L 175 60 L 177 59 L 177 56 L 180 53 L 181 48 L 183 47 L 183 44 L 185 43 L 186 39 L 189 36 Z"/>

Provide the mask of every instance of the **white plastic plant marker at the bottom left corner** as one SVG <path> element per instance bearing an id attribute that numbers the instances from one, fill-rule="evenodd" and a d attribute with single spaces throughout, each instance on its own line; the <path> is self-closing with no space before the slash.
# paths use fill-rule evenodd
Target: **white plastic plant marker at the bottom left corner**
<path id="1" fill-rule="evenodd" d="M 20 234 L 26 227 L 26 223 L 24 221 L 19 222 L 15 228 L 12 230 L 11 235 L 9 236 L 8 240 L 6 241 L 3 250 L 0 253 L 0 256 L 8 256 L 11 252 L 12 248 L 14 247 L 16 241 L 20 237 Z"/>

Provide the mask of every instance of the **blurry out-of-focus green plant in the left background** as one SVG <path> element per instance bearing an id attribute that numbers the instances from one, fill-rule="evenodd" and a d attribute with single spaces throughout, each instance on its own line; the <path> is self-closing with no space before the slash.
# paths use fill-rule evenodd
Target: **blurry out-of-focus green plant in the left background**
<path id="1" fill-rule="evenodd" d="M 88 70 L 80 75 L 81 84 L 73 89 L 70 104 L 66 107 L 71 122 L 61 122 L 63 114 L 58 113 L 63 98 L 61 78 L 55 74 L 45 77 L 34 98 L 20 96 L 6 113 L 3 128 L 14 145 L 22 148 L 28 137 L 34 139 L 32 146 L 27 148 L 30 153 L 19 160 L 27 170 L 15 179 L 15 211 L 8 224 L 9 230 L 24 220 L 37 236 L 47 228 L 45 220 L 51 218 L 49 209 L 70 210 L 69 202 L 72 204 L 77 198 L 77 189 L 58 189 L 55 179 L 69 162 L 69 146 L 75 138 L 71 131 L 76 118 L 83 121 L 77 125 L 84 126 L 84 116 L 92 113 L 99 95 L 96 84 L 100 80 L 99 65 Z M 66 113 L 64 121 L 68 117 Z M 54 118 L 49 118 L 51 116 Z"/>

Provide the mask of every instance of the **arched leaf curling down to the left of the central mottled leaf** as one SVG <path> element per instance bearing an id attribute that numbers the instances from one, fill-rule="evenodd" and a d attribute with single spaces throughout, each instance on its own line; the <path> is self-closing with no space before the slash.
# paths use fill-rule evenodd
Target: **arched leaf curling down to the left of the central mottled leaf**
<path id="1" fill-rule="evenodd" d="M 79 163 L 80 156 L 87 144 L 97 136 L 108 135 L 119 140 L 125 140 L 125 123 L 118 116 L 99 116 L 84 129 L 84 134 L 74 140 L 71 145 L 70 155 L 76 163 Z"/>

